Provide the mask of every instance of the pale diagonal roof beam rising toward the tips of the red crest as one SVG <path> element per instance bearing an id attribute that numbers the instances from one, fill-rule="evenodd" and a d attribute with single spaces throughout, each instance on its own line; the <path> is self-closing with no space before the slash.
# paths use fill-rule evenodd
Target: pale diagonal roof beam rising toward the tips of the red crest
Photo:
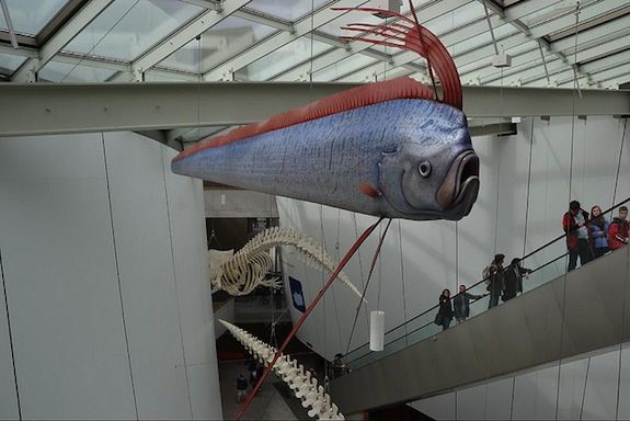
<path id="1" fill-rule="evenodd" d="M 365 2 L 366 0 L 341 0 L 335 1 L 334 5 L 354 8 L 362 5 Z M 329 7 L 330 4 L 327 4 L 325 8 L 313 13 L 312 16 L 303 19 L 300 22 L 296 23 L 294 33 L 282 32 L 279 34 L 273 35 L 267 39 L 252 46 L 252 48 L 241 54 L 238 54 L 234 57 L 220 64 L 213 70 L 205 73 L 204 78 L 207 81 L 231 79 L 230 75 L 232 75 L 237 70 L 249 66 L 250 64 L 266 56 L 267 54 L 275 52 L 282 46 L 287 45 L 293 41 L 296 41 L 300 36 L 309 34 L 310 32 L 317 30 L 318 27 L 323 26 L 330 21 L 337 19 L 339 16 L 342 15 L 342 13 L 340 12 L 330 10 Z"/>

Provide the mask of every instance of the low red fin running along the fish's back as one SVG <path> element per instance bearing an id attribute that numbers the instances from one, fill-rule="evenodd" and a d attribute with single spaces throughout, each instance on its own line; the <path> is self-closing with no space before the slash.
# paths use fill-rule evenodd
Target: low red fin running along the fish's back
<path id="1" fill-rule="evenodd" d="M 276 114 L 264 122 L 234 128 L 227 135 L 204 139 L 198 141 L 195 146 L 182 151 L 175 157 L 175 159 L 185 158 L 203 149 L 224 146 L 236 140 L 245 139 L 248 137 L 278 128 L 324 117 L 327 115 L 377 104 L 379 102 L 401 99 L 429 100 L 434 99 L 434 94 L 428 87 L 411 78 L 398 78 L 382 82 L 368 83 L 323 98 L 300 109 Z"/>

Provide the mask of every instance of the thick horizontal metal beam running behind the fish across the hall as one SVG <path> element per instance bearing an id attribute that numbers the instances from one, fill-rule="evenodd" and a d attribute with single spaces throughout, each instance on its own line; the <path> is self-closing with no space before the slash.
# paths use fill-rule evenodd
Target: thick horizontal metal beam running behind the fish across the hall
<path id="1" fill-rule="evenodd" d="M 236 125 L 356 83 L 0 83 L 0 136 Z M 581 115 L 630 114 L 630 92 L 583 90 Z M 571 90 L 466 87 L 470 117 L 572 115 Z"/>

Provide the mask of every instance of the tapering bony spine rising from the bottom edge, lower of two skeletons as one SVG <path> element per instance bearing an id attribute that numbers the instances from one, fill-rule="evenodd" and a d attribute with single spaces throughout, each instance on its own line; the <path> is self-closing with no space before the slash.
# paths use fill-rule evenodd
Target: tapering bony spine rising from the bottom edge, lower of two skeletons
<path id="1" fill-rule="evenodd" d="M 228 329 L 250 354 L 265 366 L 274 359 L 277 350 L 267 345 L 256 337 L 245 330 L 219 319 L 219 322 Z M 311 409 L 308 411 L 309 417 L 317 417 L 320 420 L 345 420 L 343 413 L 339 411 L 336 405 L 331 402 L 329 394 L 324 391 L 321 385 L 318 385 L 317 378 L 311 376 L 309 371 L 305 371 L 303 365 L 288 355 L 282 355 L 277 364 L 273 367 L 274 373 L 285 382 L 294 395 L 301 399 L 302 407 Z"/>

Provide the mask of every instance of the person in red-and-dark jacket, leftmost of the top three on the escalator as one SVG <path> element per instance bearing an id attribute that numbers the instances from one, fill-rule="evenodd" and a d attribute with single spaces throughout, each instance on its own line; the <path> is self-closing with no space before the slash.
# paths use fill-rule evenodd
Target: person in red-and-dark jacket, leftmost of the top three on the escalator
<path id="1" fill-rule="evenodd" d="M 580 265 L 593 260 L 593 252 L 588 243 L 587 220 L 588 214 L 580 207 L 580 202 L 571 201 L 569 212 L 562 217 L 562 228 L 566 232 L 566 248 L 569 249 L 568 271 L 575 269 L 577 257 L 580 257 Z"/>

